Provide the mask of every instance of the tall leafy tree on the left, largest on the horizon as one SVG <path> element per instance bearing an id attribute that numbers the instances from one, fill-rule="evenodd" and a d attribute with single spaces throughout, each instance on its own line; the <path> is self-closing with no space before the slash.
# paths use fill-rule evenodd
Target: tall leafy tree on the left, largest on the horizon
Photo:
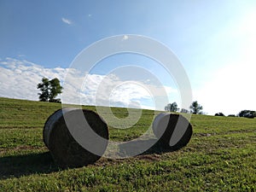
<path id="1" fill-rule="evenodd" d="M 38 84 L 38 89 L 41 90 L 41 93 L 38 93 L 40 102 L 61 102 L 60 99 L 55 99 L 63 89 L 59 79 L 43 78 L 42 83 Z"/>

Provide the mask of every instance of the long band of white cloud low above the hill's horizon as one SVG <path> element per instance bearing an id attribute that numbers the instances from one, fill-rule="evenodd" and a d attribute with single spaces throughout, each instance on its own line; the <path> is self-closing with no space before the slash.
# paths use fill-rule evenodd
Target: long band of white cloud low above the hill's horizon
<path id="1" fill-rule="evenodd" d="M 45 68 L 13 58 L 0 60 L 0 73 L 0 96 L 34 101 L 38 101 L 37 84 L 43 77 L 60 79 L 64 87 L 62 101 L 73 104 L 154 108 L 154 98 L 164 97 L 165 89 L 167 94 L 175 92 L 170 87 L 122 81 L 113 74 L 106 76 L 80 73 L 73 68 Z M 84 82 L 83 86 L 81 82 Z M 157 109 L 162 110 L 166 102 L 161 104 Z"/>

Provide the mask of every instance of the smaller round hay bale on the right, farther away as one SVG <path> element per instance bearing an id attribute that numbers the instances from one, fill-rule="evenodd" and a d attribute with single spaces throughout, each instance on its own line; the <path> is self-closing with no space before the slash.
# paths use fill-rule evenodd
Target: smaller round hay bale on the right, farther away
<path id="1" fill-rule="evenodd" d="M 183 148 L 192 137 L 192 125 L 181 114 L 160 113 L 153 122 L 155 137 L 168 148 Z"/>

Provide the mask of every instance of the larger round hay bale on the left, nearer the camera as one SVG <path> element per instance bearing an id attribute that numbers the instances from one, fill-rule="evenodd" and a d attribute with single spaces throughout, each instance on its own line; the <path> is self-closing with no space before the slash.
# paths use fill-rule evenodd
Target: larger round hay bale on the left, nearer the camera
<path id="1" fill-rule="evenodd" d="M 99 160 L 102 156 L 99 154 L 93 154 L 90 151 L 83 148 L 71 135 L 67 128 L 67 124 L 64 119 L 73 119 L 74 129 L 87 129 L 86 125 L 79 124 L 79 114 L 84 114 L 84 118 L 90 125 L 90 128 L 96 132 L 96 134 L 102 138 L 107 139 L 102 148 L 101 153 L 104 154 L 108 146 L 108 125 L 105 121 L 95 112 L 87 109 L 76 108 L 64 108 L 57 110 L 55 113 L 49 116 L 44 125 L 44 143 L 55 160 L 55 162 L 61 167 L 79 167 L 93 164 L 96 160 Z M 96 145 L 98 143 L 90 143 Z"/>

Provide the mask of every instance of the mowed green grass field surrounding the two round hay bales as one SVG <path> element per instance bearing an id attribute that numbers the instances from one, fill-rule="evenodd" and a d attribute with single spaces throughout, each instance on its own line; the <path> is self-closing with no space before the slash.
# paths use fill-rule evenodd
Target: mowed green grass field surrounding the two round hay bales
<path id="1" fill-rule="evenodd" d="M 61 170 L 43 142 L 44 122 L 59 108 L 0 98 L 0 191 L 256 191 L 256 119 L 193 115 L 193 136 L 177 151 Z M 127 116 L 125 108 L 113 113 Z M 153 117 L 143 110 L 131 129 L 110 127 L 111 140 L 140 136 Z"/>

